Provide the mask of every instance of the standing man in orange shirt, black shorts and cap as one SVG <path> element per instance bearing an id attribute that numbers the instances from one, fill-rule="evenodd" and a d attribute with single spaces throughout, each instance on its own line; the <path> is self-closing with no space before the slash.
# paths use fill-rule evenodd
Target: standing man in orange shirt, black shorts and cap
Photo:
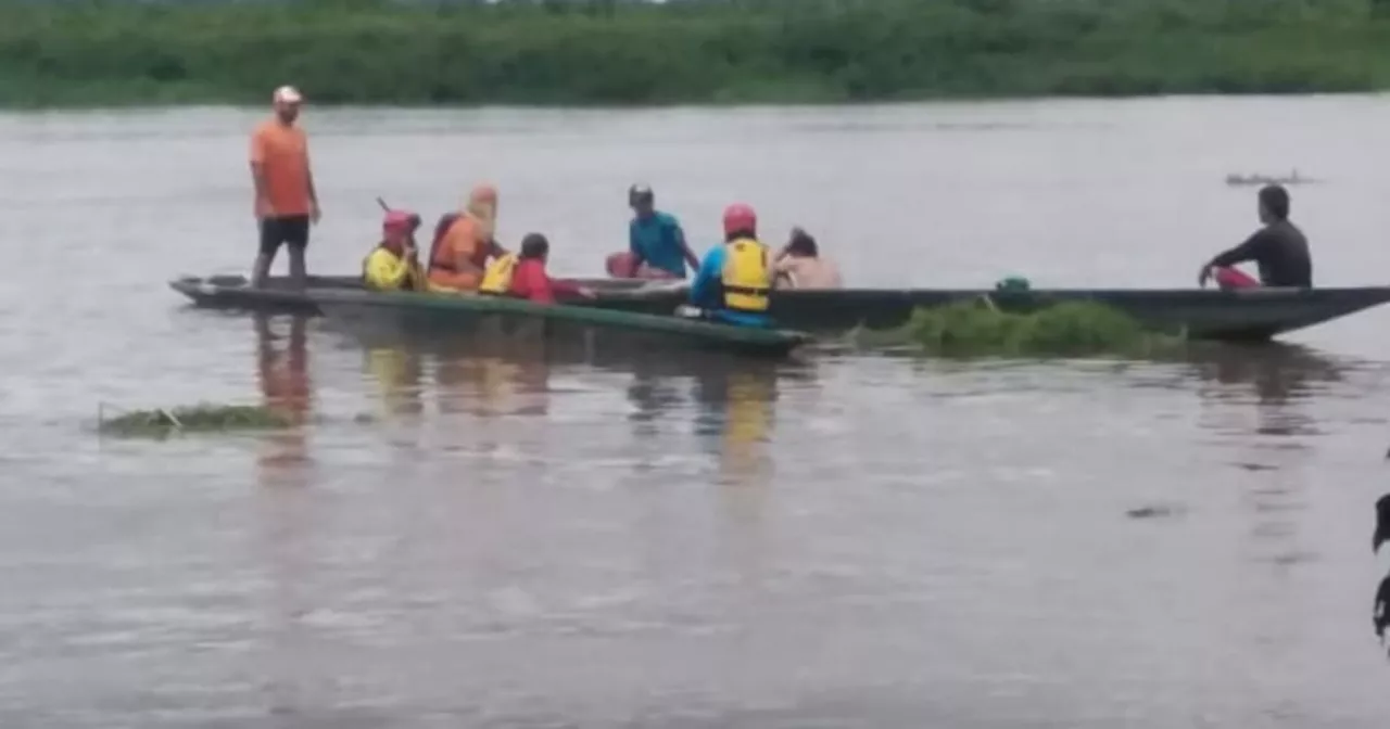
<path id="1" fill-rule="evenodd" d="M 252 286 L 261 287 L 281 244 L 289 247 L 289 278 L 295 287 L 307 283 L 304 249 L 309 224 L 318 222 L 318 194 L 309 169 L 309 140 L 295 121 L 303 101 L 293 86 L 275 89 L 275 117 L 252 135 L 252 181 L 256 183 L 256 222 L 260 253 L 252 269 Z"/>

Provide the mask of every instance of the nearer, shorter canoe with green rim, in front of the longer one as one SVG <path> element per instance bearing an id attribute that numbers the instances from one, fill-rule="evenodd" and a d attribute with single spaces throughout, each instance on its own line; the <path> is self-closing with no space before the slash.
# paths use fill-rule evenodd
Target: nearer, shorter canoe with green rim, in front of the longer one
<path id="1" fill-rule="evenodd" d="M 318 290 L 310 297 L 336 325 L 370 342 L 404 339 L 441 347 L 470 343 L 505 349 L 549 340 L 785 357 L 810 340 L 784 329 L 492 296 Z"/>

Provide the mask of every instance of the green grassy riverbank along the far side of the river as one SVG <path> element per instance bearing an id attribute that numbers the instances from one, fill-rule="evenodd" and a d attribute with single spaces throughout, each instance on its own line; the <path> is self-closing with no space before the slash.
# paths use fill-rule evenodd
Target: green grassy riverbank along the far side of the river
<path id="1" fill-rule="evenodd" d="M 0 0 L 0 104 L 663 104 L 1390 86 L 1390 0 Z"/>

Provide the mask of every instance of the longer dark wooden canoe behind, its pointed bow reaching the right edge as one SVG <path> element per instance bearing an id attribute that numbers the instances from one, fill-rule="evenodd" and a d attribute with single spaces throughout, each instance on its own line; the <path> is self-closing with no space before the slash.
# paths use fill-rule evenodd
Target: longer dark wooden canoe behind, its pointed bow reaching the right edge
<path id="1" fill-rule="evenodd" d="M 585 307 L 670 315 L 684 303 L 681 285 L 634 279 L 588 279 L 599 299 Z M 321 314 L 316 296 L 361 292 L 354 278 L 311 278 L 307 290 L 292 290 L 285 279 L 250 289 L 242 276 L 182 278 L 170 286 L 195 305 L 263 312 Z M 375 294 L 373 294 L 375 296 Z M 1390 287 L 1354 289 L 838 289 L 774 292 L 771 315 L 781 326 L 806 332 L 844 332 L 859 326 L 902 325 L 917 307 L 988 297 L 1006 311 L 1034 311 L 1062 301 L 1095 301 L 1115 307 L 1147 326 L 1182 330 L 1194 339 L 1255 342 L 1322 324 L 1390 301 Z"/>

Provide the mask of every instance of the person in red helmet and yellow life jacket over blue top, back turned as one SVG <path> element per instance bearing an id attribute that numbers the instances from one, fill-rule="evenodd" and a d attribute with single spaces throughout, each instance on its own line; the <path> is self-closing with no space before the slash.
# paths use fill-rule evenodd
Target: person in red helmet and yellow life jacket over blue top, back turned
<path id="1" fill-rule="evenodd" d="M 769 326 L 771 289 L 771 251 L 758 240 L 758 214 L 742 203 L 728 206 L 724 243 L 701 261 L 691 283 L 691 305 L 726 324 Z"/>

